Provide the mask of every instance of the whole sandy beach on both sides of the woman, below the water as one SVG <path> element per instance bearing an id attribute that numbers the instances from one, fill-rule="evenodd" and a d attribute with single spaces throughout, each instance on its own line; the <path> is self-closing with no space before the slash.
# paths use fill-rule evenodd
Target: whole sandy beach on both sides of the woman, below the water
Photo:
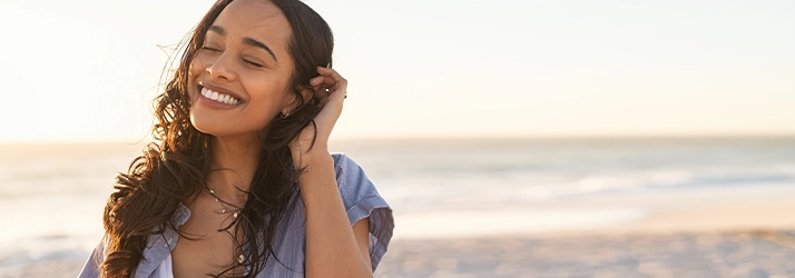
<path id="1" fill-rule="evenodd" d="M 724 199 L 660 207 L 641 219 L 589 229 L 398 236 L 375 276 L 795 277 L 792 211 L 795 197 Z M 75 277 L 81 265 L 43 260 L 0 277 Z"/>

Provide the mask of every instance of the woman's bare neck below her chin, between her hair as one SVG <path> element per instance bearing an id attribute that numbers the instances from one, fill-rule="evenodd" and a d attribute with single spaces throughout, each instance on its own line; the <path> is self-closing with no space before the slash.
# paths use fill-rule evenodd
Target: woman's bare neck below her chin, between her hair
<path id="1" fill-rule="evenodd" d="M 252 186 L 262 150 L 256 138 L 214 137 L 213 161 L 207 176 L 207 186 L 215 195 L 233 203 L 245 202 L 245 195 Z"/>

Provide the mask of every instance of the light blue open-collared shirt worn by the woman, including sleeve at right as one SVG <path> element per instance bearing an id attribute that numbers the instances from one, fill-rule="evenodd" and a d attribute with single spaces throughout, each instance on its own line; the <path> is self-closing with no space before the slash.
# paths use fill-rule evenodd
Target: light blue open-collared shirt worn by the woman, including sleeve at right
<path id="1" fill-rule="evenodd" d="M 369 218 L 370 221 L 370 261 L 373 272 L 381 258 L 386 252 L 386 247 L 392 239 L 394 219 L 392 208 L 381 198 L 379 191 L 370 181 L 364 170 L 351 158 L 343 153 L 333 153 L 334 172 L 340 188 L 347 219 L 351 225 Z M 279 261 L 271 257 L 265 269 L 257 277 L 304 277 L 304 261 L 306 259 L 306 215 L 301 193 L 289 201 L 288 210 L 279 222 L 273 248 Z M 190 210 L 180 205 L 174 214 L 171 221 L 179 227 L 190 217 Z M 144 249 L 144 258 L 138 264 L 132 277 L 163 278 L 161 262 L 169 257 L 176 246 L 179 235 L 175 230 L 166 229 L 163 234 L 151 235 Z M 106 240 L 101 240 L 91 256 L 86 261 L 80 278 L 99 277 L 98 266 L 105 258 Z M 281 262 L 281 264 L 279 264 Z M 170 272 L 170 271 L 168 271 Z"/>

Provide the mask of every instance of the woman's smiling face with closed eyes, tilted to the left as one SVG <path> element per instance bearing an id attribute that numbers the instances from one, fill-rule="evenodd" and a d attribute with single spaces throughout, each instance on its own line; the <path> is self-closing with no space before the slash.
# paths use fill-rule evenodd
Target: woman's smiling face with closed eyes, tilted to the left
<path id="1" fill-rule="evenodd" d="M 190 122 L 216 137 L 255 136 L 294 100 L 291 27 L 262 0 L 236 0 L 213 22 L 190 63 Z"/>

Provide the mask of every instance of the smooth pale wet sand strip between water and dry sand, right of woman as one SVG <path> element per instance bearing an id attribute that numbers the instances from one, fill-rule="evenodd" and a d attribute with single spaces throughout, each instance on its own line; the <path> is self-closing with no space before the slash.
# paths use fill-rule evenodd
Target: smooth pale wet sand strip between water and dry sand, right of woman
<path id="1" fill-rule="evenodd" d="M 735 232 L 795 229 L 789 189 L 748 193 L 693 190 L 395 216 L 395 240 Z M 690 197 L 687 200 L 679 195 Z M 709 198 L 709 197 L 713 198 Z M 408 227 L 406 227 L 408 226 Z"/>

